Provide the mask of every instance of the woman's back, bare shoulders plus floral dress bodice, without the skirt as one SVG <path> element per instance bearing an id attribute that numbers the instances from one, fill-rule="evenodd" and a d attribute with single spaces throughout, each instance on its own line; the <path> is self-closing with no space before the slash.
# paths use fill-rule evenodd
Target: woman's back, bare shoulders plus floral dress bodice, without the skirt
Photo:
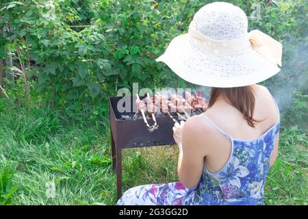
<path id="1" fill-rule="evenodd" d="M 264 183 L 274 147 L 278 146 L 279 111 L 266 88 L 253 89 L 255 119 L 262 120 L 254 128 L 224 100 L 194 118 L 198 129 L 207 130 L 205 135 L 196 136 L 196 142 L 203 140 L 205 144 L 205 165 L 200 182 L 184 204 L 264 203 Z"/>

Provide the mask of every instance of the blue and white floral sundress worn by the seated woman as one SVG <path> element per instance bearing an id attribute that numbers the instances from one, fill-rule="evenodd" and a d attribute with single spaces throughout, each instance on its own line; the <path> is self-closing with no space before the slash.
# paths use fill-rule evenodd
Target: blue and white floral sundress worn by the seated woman
<path id="1" fill-rule="evenodd" d="M 200 182 L 191 189 L 179 181 L 140 185 L 127 190 L 117 205 L 264 205 L 264 183 L 280 122 L 259 138 L 240 140 L 205 118 L 231 140 L 231 155 L 218 172 L 204 165 Z"/>

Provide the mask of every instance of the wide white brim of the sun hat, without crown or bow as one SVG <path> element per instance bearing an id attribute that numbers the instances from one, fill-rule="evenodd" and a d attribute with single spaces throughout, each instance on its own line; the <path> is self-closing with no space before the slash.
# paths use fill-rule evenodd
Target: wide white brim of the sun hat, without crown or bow
<path id="1" fill-rule="evenodd" d="M 198 49 L 188 34 L 174 38 L 156 61 L 167 64 L 185 81 L 215 88 L 248 86 L 280 71 L 252 47 L 232 55 L 208 54 Z"/>

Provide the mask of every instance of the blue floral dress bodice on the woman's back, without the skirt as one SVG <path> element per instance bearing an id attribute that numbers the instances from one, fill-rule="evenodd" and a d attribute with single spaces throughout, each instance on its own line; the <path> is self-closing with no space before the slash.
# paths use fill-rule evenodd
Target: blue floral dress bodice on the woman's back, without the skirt
<path id="1" fill-rule="evenodd" d="M 203 168 L 184 205 L 264 205 L 264 184 L 279 135 L 279 122 L 253 140 L 230 138 L 231 152 L 216 172 Z"/>

